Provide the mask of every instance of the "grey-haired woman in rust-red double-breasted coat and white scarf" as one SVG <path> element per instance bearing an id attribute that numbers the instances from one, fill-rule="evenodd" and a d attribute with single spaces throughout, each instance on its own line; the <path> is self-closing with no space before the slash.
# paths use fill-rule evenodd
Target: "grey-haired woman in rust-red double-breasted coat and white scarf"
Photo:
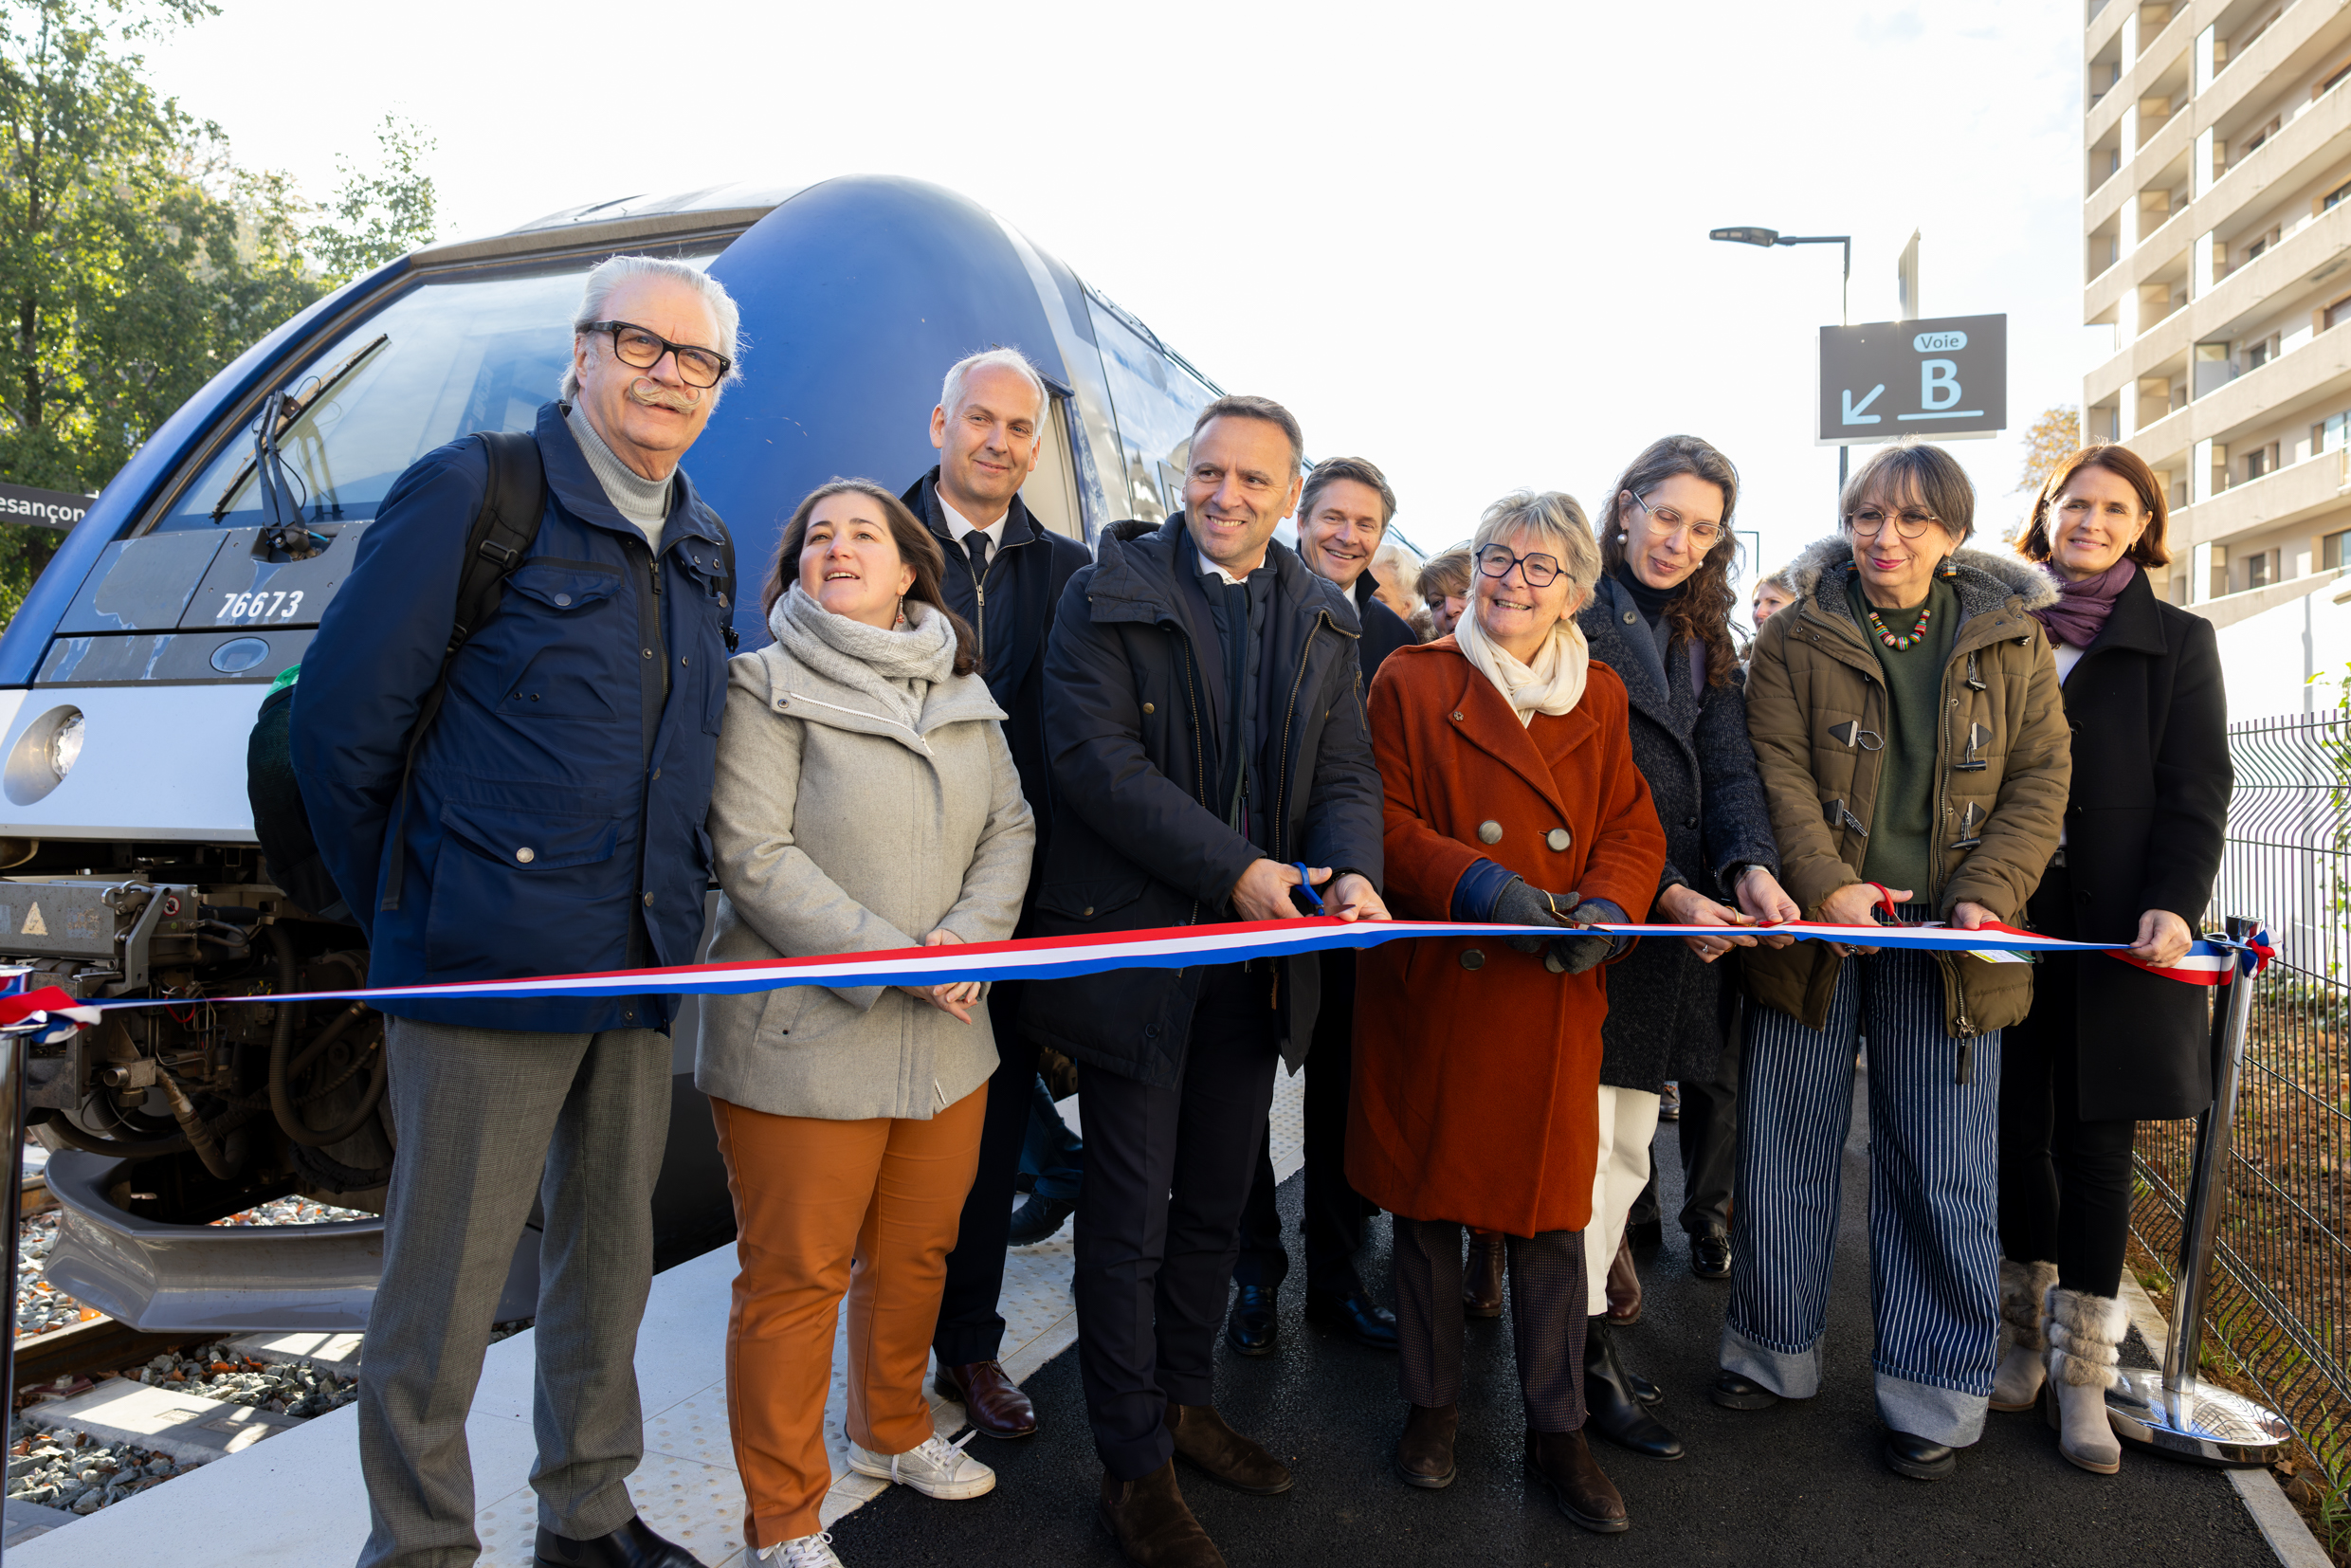
<path id="1" fill-rule="evenodd" d="M 1486 508 L 1469 614 L 1371 684 L 1399 917 L 1559 924 L 1646 910 L 1665 832 L 1625 682 L 1575 628 L 1599 545 L 1573 496 Z M 1462 1225 L 1507 1237 L 1526 1458 L 1587 1530 L 1627 1528 L 1585 1443 L 1585 1260 L 1599 1159 L 1603 936 L 1418 940 L 1361 957 L 1347 1180 L 1396 1215 L 1411 1415 L 1396 1472 L 1453 1481 Z"/>

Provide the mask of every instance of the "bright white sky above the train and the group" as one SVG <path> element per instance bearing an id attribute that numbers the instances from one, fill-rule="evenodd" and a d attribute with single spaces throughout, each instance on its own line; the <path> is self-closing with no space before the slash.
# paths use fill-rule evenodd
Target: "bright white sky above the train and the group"
<path id="1" fill-rule="evenodd" d="M 1211 378 L 1380 463 L 1422 548 L 1514 487 L 1594 510 L 1648 440 L 1740 465 L 1780 564 L 1834 517 L 1813 329 L 2008 313 L 2010 435 L 1954 442 L 1977 524 L 2078 402 L 2081 0 L 524 7 L 223 0 L 150 47 L 242 162 L 336 183 L 426 125 L 451 230 L 724 179 L 907 174 L 987 205 Z"/>

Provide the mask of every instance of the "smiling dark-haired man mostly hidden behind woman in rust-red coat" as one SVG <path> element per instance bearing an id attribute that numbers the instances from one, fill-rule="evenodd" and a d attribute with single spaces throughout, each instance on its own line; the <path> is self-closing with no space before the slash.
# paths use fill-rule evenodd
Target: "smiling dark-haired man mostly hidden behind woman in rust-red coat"
<path id="1" fill-rule="evenodd" d="M 1396 491 L 1366 458 L 1324 458 L 1307 475 L 1298 503 L 1298 559 L 1354 599 L 1364 618 L 1359 646 L 1364 686 L 1380 661 L 1415 642 L 1413 628 L 1380 604 L 1371 557 L 1380 552 L 1396 515 Z M 1364 1293 L 1354 1251 L 1364 1244 L 1364 1197 L 1347 1185 L 1347 1081 L 1354 1067 L 1354 952 L 1321 959 L 1321 1011 L 1314 1016 L 1314 1056 L 1305 1088 L 1305 1218 L 1307 1321 L 1324 1324 L 1373 1349 L 1396 1349 L 1396 1314 Z M 1267 1128 L 1270 1133 L 1272 1128 Z M 1291 1272 L 1274 1211 L 1272 1138 L 1258 1145 L 1258 1180 L 1241 1213 L 1241 1255 L 1232 1267 L 1232 1316 L 1225 1338 L 1244 1356 L 1274 1349 L 1274 1300 Z"/>

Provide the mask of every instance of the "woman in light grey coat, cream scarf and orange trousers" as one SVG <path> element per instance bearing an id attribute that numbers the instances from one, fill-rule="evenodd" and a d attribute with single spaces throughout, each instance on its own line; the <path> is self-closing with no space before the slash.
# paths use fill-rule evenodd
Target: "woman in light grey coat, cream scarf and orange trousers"
<path id="1" fill-rule="evenodd" d="M 929 529 L 865 480 L 820 487 L 785 527 L 776 642 L 729 665 L 712 961 L 1013 933 L 1037 827 L 938 574 Z M 947 1500 L 997 1481 L 931 1429 L 922 1389 L 994 1067 L 976 983 L 703 1001 L 694 1081 L 741 1253 L 726 1418 L 762 1561 L 839 1561 L 818 1505 L 844 1295 L 849 1465 Z"/>

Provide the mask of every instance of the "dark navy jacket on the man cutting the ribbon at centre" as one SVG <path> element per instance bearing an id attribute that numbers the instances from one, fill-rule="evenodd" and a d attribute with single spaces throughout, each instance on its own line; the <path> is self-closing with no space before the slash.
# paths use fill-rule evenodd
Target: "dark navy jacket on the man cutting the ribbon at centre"
<path id="1" fill-rule="evenodd" d="M 1232 886 L 1265 856 L 1215 799 L 1232 733 L 1225 656 L 1199 552 L 1176 512 L 1154 534 L 1103 536 L 1103 555 L 1060 597 L 1046 649 L 1044 736 L 1060 823 L 1037 896 L 1034 933 L 1074 936 L 1237 919 Z M 1279 693 L 1274 860 L 1354 870 L 1380 884 L 1380 769 L 1364 726 L 1361 623 L 1288 545 L 1277 571 L 1265 661 Z M 1065 1056 L 1145 1084 L 1183 1072 L 1201 969 L 1114 969 L 1030 980 L 1020 1023 Z M 1321 971 L 1288 959 L 1279 987 L 1284 1056 L 1314 1037 Z"/>

